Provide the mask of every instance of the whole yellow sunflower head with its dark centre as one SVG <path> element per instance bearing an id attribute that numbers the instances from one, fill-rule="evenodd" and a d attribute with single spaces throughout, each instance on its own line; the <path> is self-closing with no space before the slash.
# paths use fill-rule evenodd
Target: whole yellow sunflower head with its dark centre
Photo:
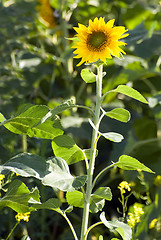
<path id="1" fill-rule="evenodd" d="M 120 46 L 125 46 L 126 43 L 119 41 L 121 38 L 127 37 L 129 34 L 125 27 L 114 27 L 115 19 L 105 23 L 104 18 L 96 17 L 93 21 L 89 20 L 88 27 L 78 24 L 74 27 L 77 32 L 75 42 L 72 48 L 76 48 L 73 52 L 76 54 L 74 58 L 82 58 L 77 66 L 84 62 L 92 63 L 97 60 L 102 60 L 106 63 L 106 59 L 113 56 L 120 57 L 120 53 L 126 54 Z"/>

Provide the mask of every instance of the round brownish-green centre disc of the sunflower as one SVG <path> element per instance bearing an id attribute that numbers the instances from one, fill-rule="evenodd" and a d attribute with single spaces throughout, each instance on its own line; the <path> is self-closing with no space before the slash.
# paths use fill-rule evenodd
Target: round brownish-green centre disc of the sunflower
<path id="1" fill-rule="evenodd" d="M 87 47 L 89 50 L 101 51 L 107 42 L 107 35 L 104 32 L 93 32 L 88 35 Z"/>

